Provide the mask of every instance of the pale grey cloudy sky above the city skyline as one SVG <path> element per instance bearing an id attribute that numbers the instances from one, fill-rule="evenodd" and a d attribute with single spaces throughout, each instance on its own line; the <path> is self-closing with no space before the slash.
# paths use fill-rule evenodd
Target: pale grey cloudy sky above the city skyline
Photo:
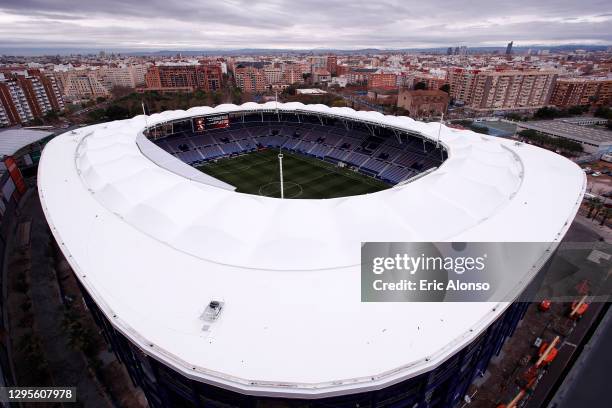
<path id="1" fill-rule="evenodd" d="M 0 0 L 28 48 L 421 48 L 612 44 L 610 0 Z"/>

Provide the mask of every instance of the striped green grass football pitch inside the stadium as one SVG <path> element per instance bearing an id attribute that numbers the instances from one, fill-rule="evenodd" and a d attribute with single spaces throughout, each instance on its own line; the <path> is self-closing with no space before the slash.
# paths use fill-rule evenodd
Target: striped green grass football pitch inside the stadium
<path id="1" fill-rule="evenodd" d="M 280 197 L 278 149 L 259 150 L 208 162 L 198 169 L 236 191 Z M 285 198 L 334 198 L 374 193 L 391 187 L 380 180 L 311 157 L 283 151 Z"/>

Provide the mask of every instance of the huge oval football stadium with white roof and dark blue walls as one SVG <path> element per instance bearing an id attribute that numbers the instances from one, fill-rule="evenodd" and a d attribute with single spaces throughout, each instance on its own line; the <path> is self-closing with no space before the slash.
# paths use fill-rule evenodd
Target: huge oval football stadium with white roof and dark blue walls
<path id="1" fill-rule="evenodd" d="M 361 243 L 533 242 L 500 266 L 521 276 L 518 296 L 585 176 L 439 123 L 269 102 L 65 133 L 38 190 L 151 406 L 453 407 L 527 304 L 361 302 Z"/>

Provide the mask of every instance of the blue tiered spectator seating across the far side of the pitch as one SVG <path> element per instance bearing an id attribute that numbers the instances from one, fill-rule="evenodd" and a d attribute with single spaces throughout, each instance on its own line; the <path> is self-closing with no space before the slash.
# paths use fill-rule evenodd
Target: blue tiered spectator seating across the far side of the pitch
<path id="1" fill-rule="evenodd" d="M 257 118 L 260 118 L 257 116 Z M 283 118 L 284 119 L 284 118 Z M 343 124 L 322 125 L 303 120 L 239 122 L 206 133 L 179 133 L 155 143 L 188 164 L 199 164 L 261 148 L 281 148 L 345 163 L 358 171 L 396 184 L 442 162 L 434 143 L 412 136 L 373 134 Z"/>

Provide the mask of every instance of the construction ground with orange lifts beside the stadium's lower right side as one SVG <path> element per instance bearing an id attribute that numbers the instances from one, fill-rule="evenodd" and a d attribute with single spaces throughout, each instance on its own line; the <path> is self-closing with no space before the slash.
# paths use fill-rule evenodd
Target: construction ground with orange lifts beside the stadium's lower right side
<path id="1" fill-rule="evenodd" d="M 597 245 L 603 238 L 575 222 L 566 237 L 571 240 Z M 556 406 L 551 400 L 606 313 L 610 314 L 610 304 L 605 301 L 608 286 L 601 285 L 608 282 L 609 275 L 608 269 L 597 285 L 587 279 L 578 281 L 568 301 L 539 293 L 539 302 L 530 304 L 499 355 L 470 387 L 462 407 Z"/>

